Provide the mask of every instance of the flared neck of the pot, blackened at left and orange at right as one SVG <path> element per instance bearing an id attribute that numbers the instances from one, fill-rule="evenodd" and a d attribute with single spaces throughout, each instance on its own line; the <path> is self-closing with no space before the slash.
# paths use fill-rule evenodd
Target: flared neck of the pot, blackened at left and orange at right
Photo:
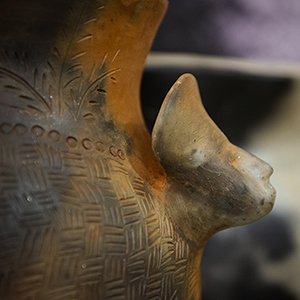
<path id="1" fill-rule="evenodd" d="M 140 82 L 167 4 L 167 0 L 0 3 L 0 67 L 6 76 L 26 78 L 31 90 L 40 94 L 38 109 L 52 126 L 75 121 L 85 128 L 92 122 L 88 118 L 93 110 L 95 128 L 104 119 L 120 137 L 125 132 L 131 165 L 154 186 L 163 185 L 165 175 L 154 158 L 141 113 Z"/>

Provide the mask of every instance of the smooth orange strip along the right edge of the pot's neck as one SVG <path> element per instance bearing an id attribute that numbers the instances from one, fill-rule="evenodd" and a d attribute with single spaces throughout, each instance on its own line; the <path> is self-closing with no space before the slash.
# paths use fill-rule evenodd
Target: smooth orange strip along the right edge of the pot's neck
<path id="1" fill-rule="evenodd" d="M 110 1 L 104 10 L 101 46 L 91 48 L 91 64 L 107 57 L 107 117 L 128 133 L 133 142 L 128 158 L 135 170 L 155 188 L 164 185 L 165 173 L 153 155 L 140 104 L 140 83 L 145 59 L 167 8 L 166 0 Z M 106 48 L 103 45 L 107 45 Z M 101 52 L 99 52 L 101 50 Z"/>

